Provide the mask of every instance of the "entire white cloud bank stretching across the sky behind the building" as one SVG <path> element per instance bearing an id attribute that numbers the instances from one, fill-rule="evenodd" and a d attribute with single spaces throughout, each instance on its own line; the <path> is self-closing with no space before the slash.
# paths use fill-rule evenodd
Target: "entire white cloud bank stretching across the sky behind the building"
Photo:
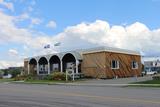
<path id="1" fill-rule="evenodd" d="M 0 45 L 16 43 L 24 46 L 24 55 L 20 55 L 22 53 L 18 53 L 11 48 L 12 50 L 9 52 L 15 55 L 18 54 L 18 56 L 10 60 L 1 60 L 0 68 L 22 66 L 23 58 L 29 55 L 33 56 L 99 45 L 137 50 L 145 55 L 160 54 L 160 29 L 150 30 L 140 22 L 127 26 L 110 26 L 108 22 L 102 20 L 91 23 L 82 22 L 75 26 L 69 26 L 63 32 L 51 37 L 42 32 L 18 28 L 14 23 L 15 20 L 18 20 L 18 17 L 0 12 L 0 18 Z M 27 18 L 29 18 L 27 14 L 22 14 L 19 19 L 25 20 Z M 40 22 L 40 20 L 33 21 L 34 24 L 39 24 Z M 59 47 L 53 47 L 48 50 L 43 49 L 44 45 L 51 44 L 53 46 L 57 42 L 61 42 Z"/>

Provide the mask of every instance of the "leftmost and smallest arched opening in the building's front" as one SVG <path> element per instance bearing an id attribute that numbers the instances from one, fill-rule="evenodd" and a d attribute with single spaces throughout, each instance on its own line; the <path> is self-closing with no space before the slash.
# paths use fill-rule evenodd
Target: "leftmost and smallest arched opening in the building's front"
<path id="1" fill-rule="evenodd" d="M 35 58 L 29 61 L 29 73 L 33 75 L 37 74 L 37 61 Z"/>

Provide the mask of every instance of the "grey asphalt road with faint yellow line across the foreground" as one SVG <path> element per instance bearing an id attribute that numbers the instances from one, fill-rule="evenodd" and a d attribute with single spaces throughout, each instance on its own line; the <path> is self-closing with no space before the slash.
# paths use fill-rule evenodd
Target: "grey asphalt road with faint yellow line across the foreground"
<path id="1" fill-rule="evenodd" d="M 0 83 L 0 107 L 160 107 L 160 89 Z"/>

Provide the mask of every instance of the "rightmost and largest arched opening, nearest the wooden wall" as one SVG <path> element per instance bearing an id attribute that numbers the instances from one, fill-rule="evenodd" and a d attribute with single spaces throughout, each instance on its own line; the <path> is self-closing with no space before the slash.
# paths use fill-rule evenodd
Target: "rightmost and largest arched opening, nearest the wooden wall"
<path id="1" fill-rule="evenodd" d="M 66 69 L 71 69 L 72 66 L 75 66 L 76 64 L 76 58 L 74 57 L 73 54 L 67 53 L 62 57 L 62 62 L 63 62 L 63 72 L 66 71 Z M 75 67 L 74 71 L 75 71 Z"/>

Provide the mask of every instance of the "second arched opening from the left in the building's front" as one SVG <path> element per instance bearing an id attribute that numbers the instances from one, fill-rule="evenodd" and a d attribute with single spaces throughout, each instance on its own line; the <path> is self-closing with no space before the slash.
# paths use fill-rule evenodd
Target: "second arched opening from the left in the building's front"
<path id="1" fill-rule="evenodd" d="M 48 73 L 47 58 L 41 57 L 38 61 L 38 64 L 39 64 L 39 74 L 47 74 Z"/>

